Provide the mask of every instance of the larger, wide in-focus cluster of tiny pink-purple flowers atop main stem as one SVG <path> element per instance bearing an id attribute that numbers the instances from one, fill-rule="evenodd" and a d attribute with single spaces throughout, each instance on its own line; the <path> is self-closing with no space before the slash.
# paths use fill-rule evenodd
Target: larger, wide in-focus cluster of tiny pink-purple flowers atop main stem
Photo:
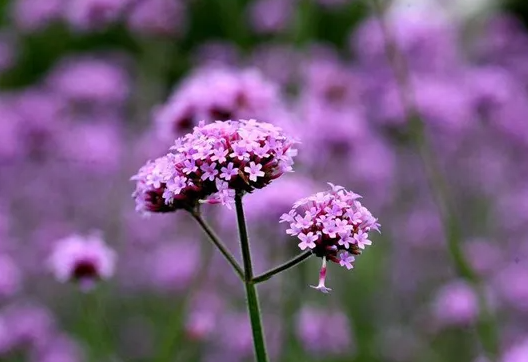
<path id="1" fill-rule="evenodd" d="M 132 177 L 136 209 L 189 210 L 199 202 L 231 207 L 236 192 L 252 192 L 292 172 L 295 143 L 279 127 L 254 119 L 200 123 L 176 140 L 174 153 Z"/>

